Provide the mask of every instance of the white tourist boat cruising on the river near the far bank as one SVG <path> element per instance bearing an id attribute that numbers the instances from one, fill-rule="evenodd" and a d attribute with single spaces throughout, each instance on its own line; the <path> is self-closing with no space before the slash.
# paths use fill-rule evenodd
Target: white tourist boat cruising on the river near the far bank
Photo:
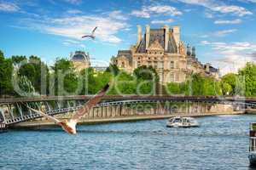
<path id="1" fill-rule="evenodd" d="M 168 120 L 166 127 L 199 127 L 199 123 L 192 117 L 176 116 Z"/>

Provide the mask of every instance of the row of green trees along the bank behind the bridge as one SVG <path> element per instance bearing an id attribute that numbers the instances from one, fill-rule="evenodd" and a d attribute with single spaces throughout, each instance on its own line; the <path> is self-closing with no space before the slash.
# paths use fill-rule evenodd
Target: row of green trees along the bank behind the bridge
<path id="1" fill-rule="evenodd" d="M 1 96 L 20 95 L 14 92 L 15 78 L 21 90 L 32 95 L 96 94 L 107 82 L 111 82 L 108 94 L 155 94 L 160 84 L 157 71 L 151 66 L 140 66 L 132 73 L 120 71 L 117 65 L 109 65 L 106 71 L 87 68 L 79 72 L 69 59 L 56 59 L 55 64 L 48 67 L 37 56 L 15 55 L 8 59 L 0 51 Z M 237 74 L 224 75 L 219 81 L 193 74 L 186 82 L 167 83 L 166 91 L 168 94 L 255 97 L 256 65 L 247 63 Z"/>

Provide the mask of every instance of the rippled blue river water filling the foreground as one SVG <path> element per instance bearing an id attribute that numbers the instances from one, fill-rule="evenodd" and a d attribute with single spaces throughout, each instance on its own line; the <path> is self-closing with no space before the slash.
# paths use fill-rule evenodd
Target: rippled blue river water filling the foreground
<path id="1" fill-rule="evenodd" d="M 197 118 L 201 127 L 167 128 L 166 120 L 0 134 L 0 169 L 251 169 L 249 122 L 256 116 Z"/>

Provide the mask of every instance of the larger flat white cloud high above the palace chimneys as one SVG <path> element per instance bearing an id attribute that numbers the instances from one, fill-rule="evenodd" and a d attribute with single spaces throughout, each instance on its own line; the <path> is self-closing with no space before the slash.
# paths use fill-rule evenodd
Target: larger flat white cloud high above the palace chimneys
<path id="1" fill-rule="evenodd" d="M 141 18 L 150 18 L 150 14 L 166 14 L 171 16 L 182 15 L 183 13 L 177 8 L 168 6 L 168 5 L 155 5 L 155 6 L 143 6 L 141 10 L 131 11 L 131 15 L 141 17 Z"/>

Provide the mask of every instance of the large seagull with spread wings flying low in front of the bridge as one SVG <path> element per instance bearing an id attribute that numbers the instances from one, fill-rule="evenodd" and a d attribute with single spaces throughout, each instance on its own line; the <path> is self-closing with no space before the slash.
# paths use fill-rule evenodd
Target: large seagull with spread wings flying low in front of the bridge
<path id="1" fill-rule="evenodd" d="M 40 114 L 41 116 L 48 118 L 50 121 L 56 122 L 67 133 L 76 134 L 77 133 L 76 125 L 79 122 L 79 119 L 82 116 L 84 116 L 85 114 L 87 114 L 90 111 L 90 109 L 102 99 L 102 97 L 106 94 L 108 88 L 109 88 L 109 84 L 107 84 L 104 88 L 102 88 L 102 90 L 100 92 L 98 92 L 94 97 L 89 99 L 89 101 L 87 101 L 83 105 L 83 107 L 79 111 L 77 111 L 77 113 L 75 115 L 73 115 L 73 117 L 71 119 L 65 120 L 65 121 L 60 121 L 60 120 L 56 119 L 54 116 L 49 116 L 46 113 L 44 113 L 43 111 L 35 110 L 29 106 L 27 106 L 27 107 L 30 110 Z"/>

